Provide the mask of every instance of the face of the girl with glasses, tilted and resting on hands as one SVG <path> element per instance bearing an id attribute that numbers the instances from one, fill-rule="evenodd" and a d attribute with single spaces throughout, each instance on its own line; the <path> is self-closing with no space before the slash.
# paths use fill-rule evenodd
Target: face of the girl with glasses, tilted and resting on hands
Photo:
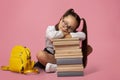
<path id="1" fill-rule="evenodd" d="M 73 32 L 76 29 L 77 24 L 76 19 L 73 16 L 68 15 L 60 20 L 59 30 L 64 32 Z"/>

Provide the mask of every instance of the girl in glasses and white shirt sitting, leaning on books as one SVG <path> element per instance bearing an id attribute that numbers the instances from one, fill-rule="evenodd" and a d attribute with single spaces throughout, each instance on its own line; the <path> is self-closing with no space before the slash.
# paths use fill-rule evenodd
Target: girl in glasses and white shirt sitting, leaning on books
<path id="1" fill-rule="evenodd" d="M 77 32 L 80 22 L 83 21 L 83 29 Z M 91 53 L 92 48 L 87 44 L 87 26 L 84 18 L 74 12 L 74 9 L 67 10 L 61 17 L 58 24 L 55 26 L 48 26 L 46 30 L 46 48 L 39 51 L 37 54 L 38 62 L 34 67 L 45 69 L 46 72 L 55 72 L 57 65 L 54 58 L 54 49 L 52 39 L 57 38 L 79 38 L 82 40 L 83 64 L 86 67 L 87 55 Z"/>

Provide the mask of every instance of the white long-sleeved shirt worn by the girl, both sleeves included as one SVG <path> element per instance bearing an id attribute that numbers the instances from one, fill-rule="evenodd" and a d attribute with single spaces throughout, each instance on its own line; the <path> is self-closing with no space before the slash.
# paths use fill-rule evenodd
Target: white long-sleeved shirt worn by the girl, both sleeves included
<path id="1" fill-rule="evenodd" d="M 84 32 L 71 32 L 70 35 L 72 38 L 79 38 L 80 40 L 84 40 L 86 35 Z M 64 35 L 62 31 L 56 31 L 55 26 L 48 26 L 46 30 L 46 48 L 51 53 L 54 54 L 53 44 L 51 42 L 52 39 L 62 38 Z"/>

